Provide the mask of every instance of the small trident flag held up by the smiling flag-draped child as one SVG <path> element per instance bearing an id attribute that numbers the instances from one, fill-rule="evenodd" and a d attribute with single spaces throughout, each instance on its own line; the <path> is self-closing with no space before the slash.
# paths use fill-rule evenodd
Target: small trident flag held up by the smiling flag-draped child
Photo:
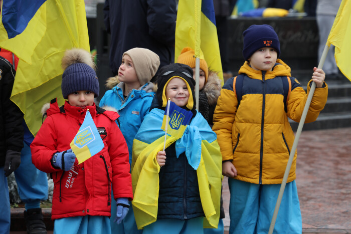
<path id="1" fill-rule="evenodd" d="M 166 123 L 168 108 L 168 123 Z M 193 113 L 191 111 L 187 111 L 177 106 L 174 102 L 169 101 L 167 102 L 167 106 L 164 111 L 161 128 L 163 129 L 163 131 L 167 130 L 166 132 L 170 136 L 179 139 L 182 137 L 185 129 L 187 128 L 187 125 L 192 120 L 192 117 Z"/>

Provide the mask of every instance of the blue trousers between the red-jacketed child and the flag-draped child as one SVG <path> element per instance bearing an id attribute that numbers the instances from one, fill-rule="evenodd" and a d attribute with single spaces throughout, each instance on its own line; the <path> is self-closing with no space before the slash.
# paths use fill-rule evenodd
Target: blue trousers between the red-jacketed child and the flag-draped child
<path id="1" fill-rule="evenodd" d="M 113 192 L 111 192 L 111 197 L 113 197 Z M 129 201 L 129 210 L 127 215 L 123 218 L 122 222 L 117 224 L 113 222 L 117 214 L 117 204 L 115 199 L 111 199 L 111 232 L 114 234 L 141 234 L 142 230 L 138 230 L 135 222 L 133 207 L 131 201 Z"/>

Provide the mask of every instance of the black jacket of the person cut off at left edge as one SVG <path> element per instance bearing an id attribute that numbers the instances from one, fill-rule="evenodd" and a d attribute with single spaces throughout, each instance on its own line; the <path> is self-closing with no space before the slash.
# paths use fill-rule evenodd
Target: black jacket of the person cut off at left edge
<path id="1" fill-rule="evenodd" d="M 23 113 L 10 100 L 16 71 L 0 56 L 0 167 L 5 164 L 7 150 L 21 152 L 23 148 Z"/>

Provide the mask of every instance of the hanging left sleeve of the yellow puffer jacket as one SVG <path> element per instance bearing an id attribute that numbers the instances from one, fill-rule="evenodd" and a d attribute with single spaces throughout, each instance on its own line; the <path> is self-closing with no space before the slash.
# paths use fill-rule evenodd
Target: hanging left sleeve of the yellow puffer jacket
<path id="1" fill-rule="evenodd" d="M 229 79 L 223 86 L 218 98 L 212 128 L 217 134 L 223 161 L 233 159 L 232 129 L 237 105 L 237 97 L 233 92 L 233 79 Z"/>

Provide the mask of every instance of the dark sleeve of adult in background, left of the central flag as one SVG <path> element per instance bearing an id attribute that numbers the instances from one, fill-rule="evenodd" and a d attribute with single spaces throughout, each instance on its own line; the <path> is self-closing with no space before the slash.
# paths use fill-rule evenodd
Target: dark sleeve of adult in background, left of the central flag
<path id="1" fill-rule="evenodd" d="M 147 5 L 149 34 L 162 44 L 174 46 L 177 19 L 175 1 L 147 0 Z"/>

